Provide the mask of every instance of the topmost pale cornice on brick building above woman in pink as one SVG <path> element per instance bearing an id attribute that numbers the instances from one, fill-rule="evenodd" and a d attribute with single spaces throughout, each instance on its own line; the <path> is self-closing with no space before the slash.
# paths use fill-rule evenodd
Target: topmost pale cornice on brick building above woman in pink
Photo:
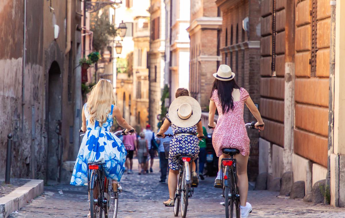
<path id="1" fill-rule="evenodd" d="M 200 29 L 221 29 L 222 22 L 221 17 L 199 17 L 190 23 L 187 31 L 192 35 Z"/>

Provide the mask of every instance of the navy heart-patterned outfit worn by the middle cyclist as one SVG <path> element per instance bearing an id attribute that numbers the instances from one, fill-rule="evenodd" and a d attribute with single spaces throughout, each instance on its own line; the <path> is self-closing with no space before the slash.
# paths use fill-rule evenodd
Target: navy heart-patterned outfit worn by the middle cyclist
<path id="1" fill-rule="evenodd" d="M 169 114 L 166 115 L 169 119 Z M 181 155 L 190 156 L 194 161 L 198 158 L 200 147 L 199 139 L 197 135 L 197 125 L 181 128 L 175 126 L 171 123 L 172 132 L 174 137 L 170 141 L 170 150 L 169 150 L 169 168 L 172 170 L 178 170 L 178 157 Z M 176 135 L 176 133 L 194 133 L 195 135 Z"/>

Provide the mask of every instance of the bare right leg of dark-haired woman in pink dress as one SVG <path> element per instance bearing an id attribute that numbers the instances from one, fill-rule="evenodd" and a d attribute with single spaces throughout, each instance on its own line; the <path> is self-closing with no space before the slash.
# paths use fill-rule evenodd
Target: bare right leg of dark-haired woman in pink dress
<path id="1" fill-rule="evenodd" d="M 239 191 L 239 200 L 241 206 L 245 207 L 247 204 L 248 197 L 248 175 L 247 175 L 247 164 L 249 156 L 243 156 L 240 153 L 234 157 L 237 161 L 237 185 Z"/>

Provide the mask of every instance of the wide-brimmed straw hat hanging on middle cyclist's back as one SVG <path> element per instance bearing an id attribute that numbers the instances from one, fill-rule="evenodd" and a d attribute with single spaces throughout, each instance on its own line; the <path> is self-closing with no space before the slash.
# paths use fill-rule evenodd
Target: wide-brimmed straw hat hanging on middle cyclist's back
<path id="1" fill-rule="evenodd" d="M 181 128 L 196 125 L 201 118 L 201 107 L 197 100 L 180 96 L 171 102 L 169 118 L 172 124 Z"/>

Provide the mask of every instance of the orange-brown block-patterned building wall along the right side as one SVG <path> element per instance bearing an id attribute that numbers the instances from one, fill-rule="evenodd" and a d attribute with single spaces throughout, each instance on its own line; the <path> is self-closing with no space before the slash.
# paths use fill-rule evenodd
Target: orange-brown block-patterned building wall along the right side
<path id="1" fill-rule="evenodd" d="M 263 0 L 260 12 L 260 112 L 266 126 L 259 173 L 279 178 L 292 171 L 293 182 L 304 181 L 305 194 L 326 179 L 334 206 L 345 205 L 339 188 L 345 183 L 345 146 L 339 141 L 343 119 L 337 113 L 343 107 L 339 84 L 344 78 L 334 67 L 344 59 L 339 56 L 341 11 L 341 1 Z"/>

